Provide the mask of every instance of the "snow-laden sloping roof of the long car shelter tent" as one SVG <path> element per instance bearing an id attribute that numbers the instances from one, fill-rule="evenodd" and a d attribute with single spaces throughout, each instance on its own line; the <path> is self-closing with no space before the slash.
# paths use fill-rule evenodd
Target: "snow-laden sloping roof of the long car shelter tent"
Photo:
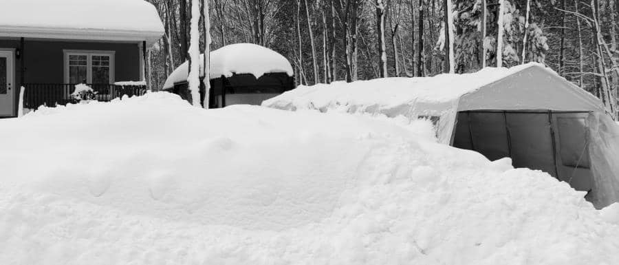
<path id="1" fill-rule="evenodd" d="M 453 104 L 457 104 L 462 96 L 476 92 L 492 83 L 497 83 L 508 76 L 525 72 L 525 70 L 542 72 L 541 76 L 554 78 L 552 82 L 561 83 L 570 91 L 578 94 L 593 108 L 597 109 L 600 106 L 597 98 L 565 81 L 556 72 L 539 63 L 527 63 L 511 68 L 487 67 L 471 74 L 439 74 L 433 77 L 418 78 L 380 78 L 353 83 L 338 82 L 331 85 L 300 86 L 290 92 L 265 100 L 263 105 L 278 109 L 341 109 L 343 106 L 347 106 L 356 111 L 367 108 L 371 110 L 370 112 L 376 112 L 378 109 L 384 109 L 384 112 L 390 112 L 394 109 L 406 111 L 406 106 L 414 105 L 451 107 Z M 525 88 L 519 87 L 517 83 L 510 86 L 512 86 L 510 89 L 513 89 L 514 93 Z M 547 87 L 527 87 L 527 89 L 537 90 L 539 93 L 547 92 L 545 91 Z M 529 100 L 534 99 L 529 98 Z M 514 101 L 512 104 L 518 103 Z"/>

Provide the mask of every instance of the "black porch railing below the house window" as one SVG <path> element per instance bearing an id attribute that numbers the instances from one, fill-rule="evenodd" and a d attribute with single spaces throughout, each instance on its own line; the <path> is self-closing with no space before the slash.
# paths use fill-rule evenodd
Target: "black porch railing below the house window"
<path id="1" fill-rule="evenodd" d="M 94 99 L 108 102 L 121 96 L 142 96 L 146 94 L 145 85 L 109 85 L 87 84 L 95 93 Z M 75 92 L 74 84 L 29 84 L 25 83 L 23 106 L 28 109 L 37 109 L 40 106 L 56 107 L 76 103 L 71 94 Z"/>

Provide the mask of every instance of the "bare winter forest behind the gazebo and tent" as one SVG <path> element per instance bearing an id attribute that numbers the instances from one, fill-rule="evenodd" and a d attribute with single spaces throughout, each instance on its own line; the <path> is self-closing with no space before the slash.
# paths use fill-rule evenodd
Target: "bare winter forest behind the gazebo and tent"
<path id="1" fill-rule="evenodd" d="M 619 0 L 199 0 L 201 7 L 204 1 L 210 23 L 200 8 L 202 51 L 206 32 L 210 50 L 263 45 L 289 59 L 298 85 L 533 61 L 616 111 Z M 148 83 L 156 90 L 188 59 L 193 1 L 149 2 L 166 29 L 148 51 Z"/>

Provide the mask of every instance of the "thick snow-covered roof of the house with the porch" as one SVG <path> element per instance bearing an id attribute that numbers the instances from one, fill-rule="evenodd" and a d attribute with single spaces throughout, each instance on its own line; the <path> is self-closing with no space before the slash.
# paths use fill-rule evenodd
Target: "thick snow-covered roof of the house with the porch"
<path id="1" fill-rule="evenodd" d="M 0 0 L 0 36 L 90 41 L 146 41 L 164 34 L 143 0 Z"/>

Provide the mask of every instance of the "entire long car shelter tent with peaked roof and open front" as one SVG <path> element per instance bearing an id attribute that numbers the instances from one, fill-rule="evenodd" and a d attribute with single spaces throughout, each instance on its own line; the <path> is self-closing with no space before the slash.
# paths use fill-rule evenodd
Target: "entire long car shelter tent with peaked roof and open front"
<path id="1" fill-rule="evenodd" d="M 598 98 L 544 65 L 302 86 L 263 105 L 428 118 L 439 142 L 545 171 L 598 208 L 619 202 L 619 127 Z"/>

